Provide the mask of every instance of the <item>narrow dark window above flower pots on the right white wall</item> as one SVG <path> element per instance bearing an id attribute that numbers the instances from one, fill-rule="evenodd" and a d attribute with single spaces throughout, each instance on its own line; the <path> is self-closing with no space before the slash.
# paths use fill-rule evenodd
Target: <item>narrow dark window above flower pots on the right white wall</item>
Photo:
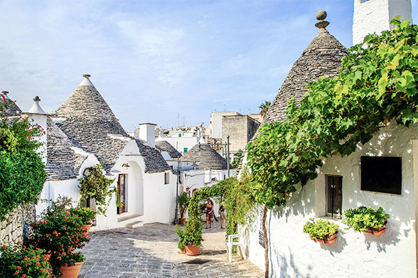
<path id="1" fill-rule="evenodd" d="M 341 218 L 343 206 L 343 177 L 334 174 L 325 175 L 327 195 L 327 215 Z"/>

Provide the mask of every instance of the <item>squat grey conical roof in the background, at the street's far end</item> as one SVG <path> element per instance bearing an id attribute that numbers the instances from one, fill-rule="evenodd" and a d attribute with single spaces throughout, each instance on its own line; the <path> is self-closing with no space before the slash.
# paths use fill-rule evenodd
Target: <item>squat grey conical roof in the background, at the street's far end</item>
<path id="1" fill-rule="evenodd" d="M 199 147 L 201 150 L 199 150 Z M 205 170 L 226 170 L 228 165 L 225 158 L 215 152 L 206 142 L 199 142 L 192 147 L 187 153 L 180 157 L 180 161 L 196 161 L 199 162 L 199 169 Z M 230 167 L 231 168 L 231 167 Z"/>

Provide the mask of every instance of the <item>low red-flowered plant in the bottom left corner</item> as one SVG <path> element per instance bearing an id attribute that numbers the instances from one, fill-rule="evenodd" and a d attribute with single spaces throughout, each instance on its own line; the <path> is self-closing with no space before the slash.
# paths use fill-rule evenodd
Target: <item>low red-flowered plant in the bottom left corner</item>
<path id="1" fill-rule="evenodd" d="M 0 277 L 49 278 L 49 255 L 45 250 L 18 243 L 0 247 Z"/>

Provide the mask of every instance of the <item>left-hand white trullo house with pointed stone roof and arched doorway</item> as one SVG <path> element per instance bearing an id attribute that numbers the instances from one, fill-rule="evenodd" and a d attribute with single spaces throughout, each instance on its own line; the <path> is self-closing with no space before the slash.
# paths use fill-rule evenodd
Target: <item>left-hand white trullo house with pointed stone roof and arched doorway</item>
<path id="1" fill-rule="evenodd" d="M 62 195 L 78 201 L 79 179 L 89 167 L 102 163 L 106 177 L 114 179 L 111 188 L 118 188 L 123 206 L 116 207 L 114 196 L 106 215 L 96 216 L 92 230 L 172 222 L 176 176 L 171 167 L 153 145 L 127 135 L 89 78 L 84 75 L 54 113 L 29 111 L 37 121 L 45 118 L 47 131 L 47 181 L 41 198 L 56 200 Z M 86 205 L 95 208 L 94 200 Z M 45 206 L 39 204 L 38 212 Z"/>

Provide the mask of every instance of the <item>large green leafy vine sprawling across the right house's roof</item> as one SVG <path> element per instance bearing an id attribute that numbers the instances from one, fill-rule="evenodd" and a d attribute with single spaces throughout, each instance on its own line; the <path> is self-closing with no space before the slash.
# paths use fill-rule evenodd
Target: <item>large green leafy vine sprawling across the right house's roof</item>
<path id="1" fill-rule="evenodd" d="M 309 83 L 299 105 L 291 99 L 284 122 L 261 127 L 247 148 L 256 202 L 283 205 L 317 177 L 323 158 L 348 156 L 392 120 L 418 121 L 418 27 L 399 19 L 348 49 L 339 74 Z"/>

